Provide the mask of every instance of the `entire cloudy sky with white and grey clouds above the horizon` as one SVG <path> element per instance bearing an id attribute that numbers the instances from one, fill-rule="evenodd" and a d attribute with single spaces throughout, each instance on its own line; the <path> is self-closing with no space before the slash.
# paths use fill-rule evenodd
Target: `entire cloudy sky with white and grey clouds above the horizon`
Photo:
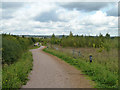
<path id="1" fill-rule="evenodd" d="M 118 36 L 116 2 L 2 2 L 0 33 Z"/>

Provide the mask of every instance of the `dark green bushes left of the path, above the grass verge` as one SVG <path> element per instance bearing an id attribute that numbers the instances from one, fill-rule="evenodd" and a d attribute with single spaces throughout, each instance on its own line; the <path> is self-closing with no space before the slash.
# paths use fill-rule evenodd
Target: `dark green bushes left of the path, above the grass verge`
<path id="1" fill-rule="evenodd" d="M 33 45 L 37 38 L 25 38 L 16 35 L 2 34 L 2 64 L 16 62 L 29 46 Z"/>

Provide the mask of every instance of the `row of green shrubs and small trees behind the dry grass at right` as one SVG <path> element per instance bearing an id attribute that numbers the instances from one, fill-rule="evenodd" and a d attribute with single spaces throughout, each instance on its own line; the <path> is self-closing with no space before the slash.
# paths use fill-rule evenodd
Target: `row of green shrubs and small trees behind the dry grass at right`
<path id="1" fill-rule="evenodd" d="M 110 34 L 106 34 L 103 36 L 100 34 L 99 36 L 73 36 L 73 33 L 70 32 L 69 36 L 62 36 L 62 38 L 58 38 L 55 34 L 52 35 L 51 38 L 42 39 L 45 44 L 56 44 L 62 47 L 89 47 L 89 48 L 101 48 L 109 51 L 111 48 L 118 48 L 118 38 L 111 38 Z"/>

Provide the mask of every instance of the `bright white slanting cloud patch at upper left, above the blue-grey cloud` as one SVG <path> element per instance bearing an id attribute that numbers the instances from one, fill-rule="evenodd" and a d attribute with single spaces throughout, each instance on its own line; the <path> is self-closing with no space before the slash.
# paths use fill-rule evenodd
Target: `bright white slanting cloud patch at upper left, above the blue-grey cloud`
<path id="1" fill-rule="evenodd" d="M 17 19 L 31 19 L 36 15 L 48 12 L 53 8 L 56 8 L 54 3 L 26 3 L 26 5 L 19 11 L 15 12 L 13 16 Z"/>

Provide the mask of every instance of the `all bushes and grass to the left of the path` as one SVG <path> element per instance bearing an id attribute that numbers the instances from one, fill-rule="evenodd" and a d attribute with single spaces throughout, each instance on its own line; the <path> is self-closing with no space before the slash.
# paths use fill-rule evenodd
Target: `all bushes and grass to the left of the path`
<path id="1" fill-rule="evenodd" d="M 2 36 L 2 88 L 20 88 L 32 70 L 32 53 L 28 49 L 39 39 Z"/>

